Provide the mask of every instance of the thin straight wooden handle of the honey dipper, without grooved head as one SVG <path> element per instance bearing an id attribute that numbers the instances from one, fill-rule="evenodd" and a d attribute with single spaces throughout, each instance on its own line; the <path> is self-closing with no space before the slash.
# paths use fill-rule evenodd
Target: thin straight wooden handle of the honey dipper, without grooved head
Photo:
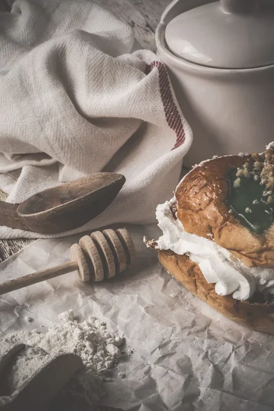
<path id="1" fill-rule="evenodd" d="M 5 292 L 18 290 L 19 288 L 24 288 L 26 286 L 30 286 L 31 284 L 36 284 L 38 282 L 45 281 L 46 279 L 59 277 L 59 275 L 63 275 L 66 273 L 71 273 L 71 271 L 75 271 L 77 269 L 77 262 L 71 261 L 66 262 L 65 264 L 61 264 L 59 266 L 51 267 L 47 270 L 37 271 L 36 273 L 11 279 L 10 281 L 0 284 L 0 295 L 5 294 Z"/>

